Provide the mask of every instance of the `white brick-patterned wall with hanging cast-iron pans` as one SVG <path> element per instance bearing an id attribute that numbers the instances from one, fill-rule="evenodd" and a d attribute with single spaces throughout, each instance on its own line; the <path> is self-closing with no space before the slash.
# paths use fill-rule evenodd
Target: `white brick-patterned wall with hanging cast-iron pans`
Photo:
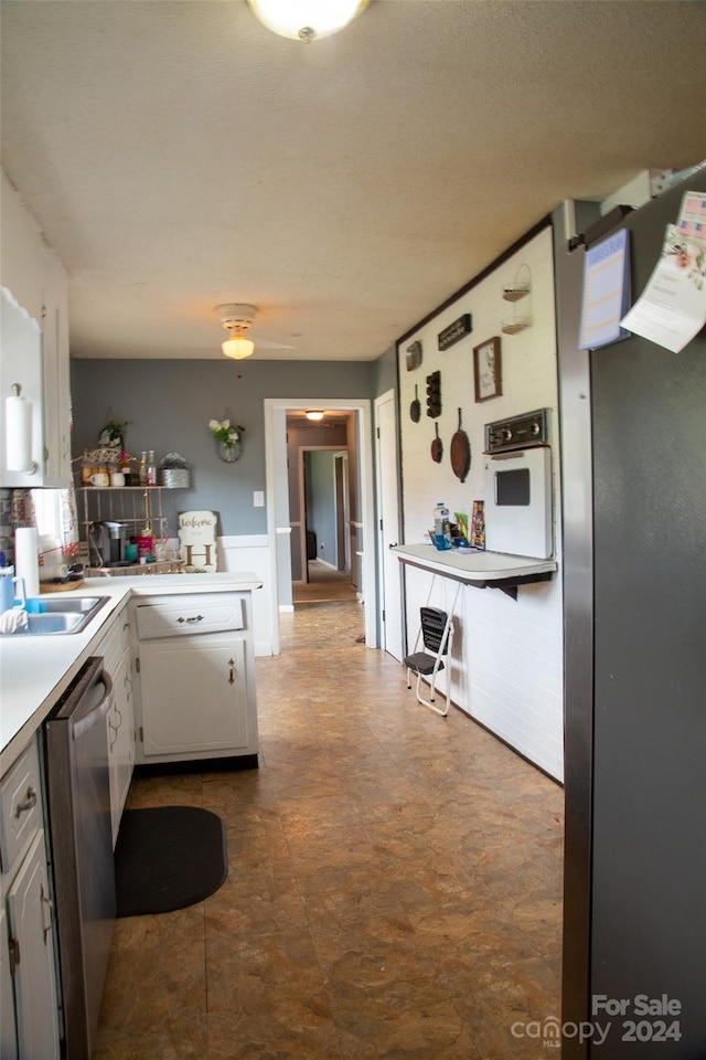
<path id="1" fill-rule="evenodd" d="M 503 335 L 502 320 L 513 316 L 513 304 L 502 298 L 503 287 L 528 265 L 532 290 L 514 304 L 517 317 L 530 315 L 532 325 L 517 335 Z M 523 274 L 526 273 L 523 269 Z M 438 350 L 438 333 L 461 316 L 472 314 L 473 330 L 446 352 Z M 477 403 L 473 389 L 473 347 L 493 336 L 501 339 L 502 395 Z M 405 349 L 414 339 L 422 344 L 421 365 L 406 371 Z M 549 409 L 554 467 L 555 550 L 560 563 L 559 438 L 557 358 L 554 307 L 552 231 L 546 229 L 491 276 L 406 339 L 399 349 L 403 497 L 405 543 L 425 540 L 431 510 L 439 500 L 451 511 L 469 517 L 473 500 L 484 499 L 483 426 L 494 420 Z M 426 378 L 441 372 L 442 413 L 439 434 L 442 463 L 431 460 L 435 421 L 426 415 Z M 409 406 L 419 389 L 422 415 L 411 422 Z M 471 443 L 471 468 L 464 484 L 454 476 L 449 451 L 462 411 L 463 430 Z M 408 643 L 414 644 L 419 606 L 426 603 L 431 575 L 406 568 Z M 449 607 L 457 583 L 437 577 L 431 593 L 435 606 Z M 450 667 L 451 698 L 492 732 L 552 776 L 563 776 L 563 611 L 561 573 L 550 582 L 521 586 L 517 601 L 499 590 L 463 586 L 456 613 L 456 639 Z M 420 707 L 420 710 L 424 708 Z"/>

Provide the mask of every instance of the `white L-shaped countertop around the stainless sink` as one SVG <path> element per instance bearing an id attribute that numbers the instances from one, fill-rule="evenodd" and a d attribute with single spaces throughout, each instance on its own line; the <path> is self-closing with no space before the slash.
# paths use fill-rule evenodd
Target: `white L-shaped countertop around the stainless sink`
<path id="1" fill-rule="evenodd" d="M 225 593 L 260 589 L 249 572 L 233 574 L 146 574 L 135 577 L 88 577 L 63 596 L 109 596 L 81 633 L 54 636 L 14 634 L 0 637 L 0 775 L 24 750 L 58 697 L 95 650 L 106 623 L 129 596 L 173 593 Z"/>

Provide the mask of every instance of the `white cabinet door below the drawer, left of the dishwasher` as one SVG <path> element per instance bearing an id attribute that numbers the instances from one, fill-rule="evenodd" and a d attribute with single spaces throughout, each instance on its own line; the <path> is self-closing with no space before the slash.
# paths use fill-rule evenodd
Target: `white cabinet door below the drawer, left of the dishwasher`
<path id="1" fill-rule="evenodd" d="M 8 892 L 8 916 L 10 934 L 20 950 L 14 968 L 20 1056 L 58 1060 L 54 930 L 42 830 L 36 834 Z"/>

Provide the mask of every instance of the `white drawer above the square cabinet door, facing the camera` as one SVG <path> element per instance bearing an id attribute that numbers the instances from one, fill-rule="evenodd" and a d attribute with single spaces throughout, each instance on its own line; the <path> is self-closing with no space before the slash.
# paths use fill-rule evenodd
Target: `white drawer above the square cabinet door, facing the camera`
<path id="1" fill-rule="evenodd" d="M 197 593 L 138 602 L 135 613 L 140 640 L 243 629 L 245 625 L 243 598 L 237 593 Z"/>

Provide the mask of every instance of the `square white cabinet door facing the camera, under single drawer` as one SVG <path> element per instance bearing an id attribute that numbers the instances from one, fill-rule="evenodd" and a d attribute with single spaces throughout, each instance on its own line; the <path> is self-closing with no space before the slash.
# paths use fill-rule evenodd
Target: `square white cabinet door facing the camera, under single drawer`
<path id="1" fill-rule="evenodd" d="M 227 754 L 248 744 L 245 642 L 232 634 L 140 646 L 143 754 Z"/>

